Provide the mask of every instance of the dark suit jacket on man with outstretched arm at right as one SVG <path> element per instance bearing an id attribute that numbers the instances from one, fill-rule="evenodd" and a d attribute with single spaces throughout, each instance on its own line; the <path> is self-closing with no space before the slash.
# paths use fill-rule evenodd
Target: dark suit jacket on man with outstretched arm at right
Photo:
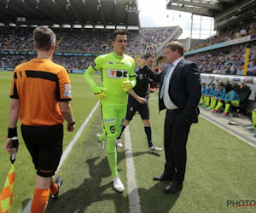
<path id="1" fill-rule="evenodd" d="M 158 73 L 150 70 L 148 66 L 144 66 L 142 71 L 149 78 L 160 82 L 161 89 L 167 69 L 168 66 L 166 66 L 163 72 Z M 191 120 L 193 123 L 198 122 L 199 109 L 197 105 L 201 98 L 201 78 L 195 63 L 183 59 L 177 64 L 170 79 L 169 95 L 171 101 L 178 109 L 182 110 L 183 116 L 186 119 Z M 165 108 L 164 100 L 160 99 L 159 96 L 159 110 L 161 111 Z"/>

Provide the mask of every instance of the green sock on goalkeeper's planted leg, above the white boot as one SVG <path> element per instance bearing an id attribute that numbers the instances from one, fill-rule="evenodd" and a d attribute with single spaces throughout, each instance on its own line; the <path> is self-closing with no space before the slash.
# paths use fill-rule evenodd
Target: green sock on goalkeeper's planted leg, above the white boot
<path id="1" fill-rule="evenodd" d="M 115 137 L 107 137 L 107 157 L 112 176 L 118 176 Z"/>

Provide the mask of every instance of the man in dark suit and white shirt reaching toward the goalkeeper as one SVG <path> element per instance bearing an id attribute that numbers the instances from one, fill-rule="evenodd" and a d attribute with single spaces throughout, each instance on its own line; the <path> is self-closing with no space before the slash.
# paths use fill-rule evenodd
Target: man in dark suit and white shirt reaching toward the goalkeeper
<path id="1" fill-rule="evenodd" d="M 149 78 L 160 82 L 159 110 L 167 109 L 164 130 L 165 170 L 162 175 L 154 176 L 153 180 L 171 181 L 165 193 L 177 193 L 183 189 L 190 126 L 198 122 L 201 78 L 195 63 L 183 58 L 182 43 L 167 43 L 165 57 L 167 66 L 161 73 L 150 70 L 139 56 L 135 57 L 135 61 Z"/>

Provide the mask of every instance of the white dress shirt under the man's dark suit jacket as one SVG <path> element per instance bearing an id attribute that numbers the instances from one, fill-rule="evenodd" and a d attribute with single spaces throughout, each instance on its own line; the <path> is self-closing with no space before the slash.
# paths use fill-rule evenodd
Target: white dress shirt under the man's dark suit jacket
<path id="1" fill-rule="evenodd" d="M 166 86 L 165 86 L 165 91 L 164 91 L 164 103 L 165 103 L 165 106 L 167 109 L 177 109 L 177 106 L 171 101 L 171 98 L 170 98 L 170 95 L 169 95 L 169 84 L 170 84 L 170 79 L 172 77 L 172 72 L 174 71 L 175 67 L 177 66 L 177 64 L 183 60 L 183 57 L 180 57 L 178 58 L 177 60 L 175 60 L 173 63 L 172 63 L 172 67 L 171 67 L 171 70 L 169 70 L 167 73 L 166 73 L 166 76 L 165 78 L 166 79 Z"/>

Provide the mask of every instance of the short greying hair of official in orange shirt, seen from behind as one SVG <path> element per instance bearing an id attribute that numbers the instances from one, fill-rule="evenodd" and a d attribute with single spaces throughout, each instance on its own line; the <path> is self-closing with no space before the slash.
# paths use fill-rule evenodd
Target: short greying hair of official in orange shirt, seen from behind
<path id="1" fill-rule="evenodd" d="M 38 50 L 49 51 L 51 45 L 56 42 L 55 33 L 47 26 L 38 26 L 33 31 L 33 39 Z"/>

